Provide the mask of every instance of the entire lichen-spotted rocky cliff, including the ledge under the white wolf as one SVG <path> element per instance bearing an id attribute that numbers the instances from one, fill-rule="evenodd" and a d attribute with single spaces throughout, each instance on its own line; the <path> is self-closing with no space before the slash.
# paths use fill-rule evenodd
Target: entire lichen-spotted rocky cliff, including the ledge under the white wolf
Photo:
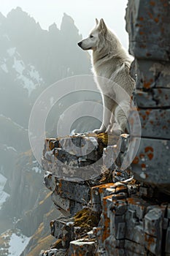
<path id="1" fill-rule="evenodd" d="M 128 1 L 126 24 L 142 140 L 120 170 L 131 135 L 47 139 L 45 185 L 64 217 L 46 255 L 170 255 L 169 1 Z M 135 123 L 134 111 L 130 120 Z M 138 127 L 134 127 L 134 130 Z M 110 139 L 111 136 L 111 139 Z M 136 136 L 133 140 L 137 140 Z M 77 154 L 85 147 L 87 153 Z"/>

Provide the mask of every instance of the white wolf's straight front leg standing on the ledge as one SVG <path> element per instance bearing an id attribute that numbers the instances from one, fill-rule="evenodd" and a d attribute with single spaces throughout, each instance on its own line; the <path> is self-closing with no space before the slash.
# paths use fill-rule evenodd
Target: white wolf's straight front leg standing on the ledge
<path id="1" fill-rule="evenodd" d="M 116 103 L 113 99 L 107 97 L 106 95 L 102 95 L 102 97 L 103 97 L 103 107 L 104 107 L 103 121 L 102 121 L 100 129 L 93 130 L 93 132 L 95 132 L 96 134 L 107 131 L 107 128 L 110 125 L 112 110 L 113 110 L 114 106 L 116 105 Z"/>

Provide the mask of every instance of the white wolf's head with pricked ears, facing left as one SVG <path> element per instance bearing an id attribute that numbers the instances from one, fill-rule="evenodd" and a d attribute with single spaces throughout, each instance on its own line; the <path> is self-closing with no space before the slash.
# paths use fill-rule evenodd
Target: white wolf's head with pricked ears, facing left
<path id="1" fill-rule="evenodd" d="M 83 39 L 81 42 L 78 42 L 78 45 L 82 50 L 96 50 L 101 43 L 104 42 L 104 37 L 107 34 L 107 26 L 104 23 L 104 20 L 101 19 L 99 22 L 96 19 L 96 26 L 90 32 L 88 38 Z"/>

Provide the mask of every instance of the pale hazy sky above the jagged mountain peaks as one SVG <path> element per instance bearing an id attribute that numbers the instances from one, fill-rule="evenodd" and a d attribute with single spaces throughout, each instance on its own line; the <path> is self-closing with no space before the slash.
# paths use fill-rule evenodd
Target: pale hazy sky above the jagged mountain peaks
<path id="1" fill-rule="evenodd" d="M 115 31 L 125 48 L 128 48 L 128 34 L 125 31 L 125 7 L 128 0 L 0 0 L 0 12 L 6 16 L 16 7 L 28 12 L 42 29 L 54 22 L 60 28 L 63 12 L 72 16 L 75 25 L 87 37 L 93 29 L 95 18 L 104 18 L 112 31 Z"/>

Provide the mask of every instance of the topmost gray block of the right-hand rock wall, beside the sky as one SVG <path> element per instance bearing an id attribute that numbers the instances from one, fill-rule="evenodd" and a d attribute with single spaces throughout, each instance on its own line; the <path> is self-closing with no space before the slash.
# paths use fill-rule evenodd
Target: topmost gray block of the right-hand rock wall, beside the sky
<path id="1" fill-rule="evenodd" d="M 169 1 L 128 1 L 126 29 L 137 59 L 169 61 Z"/>

